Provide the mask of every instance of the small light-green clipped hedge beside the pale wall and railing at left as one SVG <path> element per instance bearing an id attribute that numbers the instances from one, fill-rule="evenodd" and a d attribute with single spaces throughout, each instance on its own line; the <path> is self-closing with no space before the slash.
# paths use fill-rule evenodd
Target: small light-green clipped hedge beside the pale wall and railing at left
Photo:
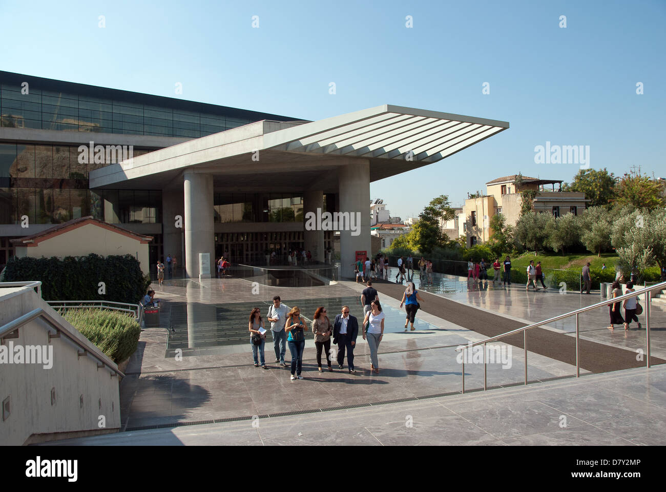
<path id="1" fill-rule="evenodd" d="M 129 315 L 105 309 L 69 309 L 63 317 L 117 364 L 137 350 L 141 327 Z"/>

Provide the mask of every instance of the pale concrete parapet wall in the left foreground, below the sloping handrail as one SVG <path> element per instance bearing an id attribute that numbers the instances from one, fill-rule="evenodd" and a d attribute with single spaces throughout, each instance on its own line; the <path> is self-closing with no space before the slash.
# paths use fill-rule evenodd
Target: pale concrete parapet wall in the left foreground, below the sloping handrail
<path id="1" fill-rule="evenodd" d="M 93 345 L 58 315 L 32 289 L 0 289 L 0 326 L 41 307 L 69 331 Z M 19 328 L 19 337 L 5 339 L 17 345 L 53 346 L 53 367 L 39 364 L 0 364 L 0 401 L 7 397 L 11 413 L 0 419 L 0 445 L 22 445 L 47 441 L 49 435 L 60 433 L 101 433 L 121 426 L 118 377 L 111 377 L 107 368 L 97 369 L 97 360 L 79 357 L 77 348 L 65 335 L 51 339 L 45 321 L 35 319 Z M 53 332 L 53 329 L 51 329 Z M 51 389 L 55 388 L 55 402 Z M 83 395 L 83 405 L 81 405 Z M 101 403 L 100 403 L 101 400 Z M 99 427 L 99 416 L 105 427 Z"/>

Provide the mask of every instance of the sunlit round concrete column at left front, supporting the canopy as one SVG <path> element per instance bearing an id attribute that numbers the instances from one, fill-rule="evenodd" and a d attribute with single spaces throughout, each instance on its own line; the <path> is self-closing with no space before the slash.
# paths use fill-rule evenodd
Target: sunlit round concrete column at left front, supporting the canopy
<path id="1" fill-rule="evenodd" d="M 185 171 L 184 175 L 185 269 L 187 277 L 199 277 L 199 253 L 215 255 L 212 175 Z M 210 275 L 208 275 L 210 276 Z"/>

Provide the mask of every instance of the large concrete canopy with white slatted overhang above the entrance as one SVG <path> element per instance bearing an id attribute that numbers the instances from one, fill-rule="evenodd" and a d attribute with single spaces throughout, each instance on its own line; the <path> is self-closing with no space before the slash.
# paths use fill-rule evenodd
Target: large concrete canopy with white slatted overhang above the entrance
<path id="1" fill-rule="evenodd" d="M 91 187 L 160 188 L 184 169 L 215 185 L 256 181 L 284 189 L 336 183 L 348 159 L 370 162 L 370 181 L 440 161 L 509 127 L 505 121 L 393 105 L 319 121 L 258 121 L 91 171 Z M 258 156 L 258 159 L 252 157 Z"/>

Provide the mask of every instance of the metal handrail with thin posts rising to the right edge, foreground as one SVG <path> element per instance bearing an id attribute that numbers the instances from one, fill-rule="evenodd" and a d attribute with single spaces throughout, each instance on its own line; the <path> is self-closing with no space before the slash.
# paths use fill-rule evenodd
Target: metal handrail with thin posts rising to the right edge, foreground
<path id="1" fill-rule="evenodd" d="M 496 335 L 494 337 L 490 337 L 484 340 L 480 340 L 474 343 L 469 343 L 468 345 L 464 345 L 462 347 L 458 347 L 456 349 L 456 352 L 466 350 L 466 349 L 471 349 L 472 347 L 476 347 L 477 345 L 484 345 L 484 391 L 488 387 L 488 377 L 487 377 L 487 362 L 486 362 L 486 344 L 489 342 L 493 342 L 496 340 L 499 340 L 503 337 L 509 337 L 511 335 L 517 335 L 517 333 L 523 333 L 523 359 L 524 359 L 524 383 L 527 385 L 527 330 L 531 328 L 536 328 L 541 325 L 545 325 L 546 323 L 551 323 L 552 321 L 557 321 L 559 319 L 564 319 L 568 318 L 570 316 L 575 316 L 576 317 L 576 377 L 580 377 L 580 363 L 579 363 L 579 327 L 578 327 L 578 315 L 579 313 L 584 313 L 585 311 L 591 311 L 592 309 L 596 309 L 597 307 L 604 307 L 604 306 L 609 306 L 611 304 L 615 304 L 617 302 L 623 301 L 624 299 L 631 299 L 632 297 L 638 297 L 639 295 L 645 294 L 645 344 L 647 345 L 646 347 L 646 354 L 645 354 L 645 367 L 650 367 L 650 302 L 651 302 L 651 293 L 652 291 L 661 291 L 663 289 L 666 289 L 666 282 L 661 282 L 661 283 L 656 283 L 655 285 L 651 285 L 650 287 L 643 287 L 643 289 L 639 289 L 637 291 L 633 291 L 627 294 L 619 295 L 615 298 L 611 298 L 609 301 L 601 301 L 596 304 L 592 304 L 586 307 L 581 307 L 579 309 L 576 309 L 575 311 L 569 311 L 569 313 L 564 313 L 559 316 L 555 316 L 549 319 L 545 319 L 543 321 L 539 321 L 539 323 L 533 323 L 531 325 L 527 325 L 525 327 L 517 328 L 515 330 L 507 331 L 506 333 L 502 333 L 501 335 Z M 465 393 L 465 359 L 463 358 L 462 360 L 462 392 Z"/>

